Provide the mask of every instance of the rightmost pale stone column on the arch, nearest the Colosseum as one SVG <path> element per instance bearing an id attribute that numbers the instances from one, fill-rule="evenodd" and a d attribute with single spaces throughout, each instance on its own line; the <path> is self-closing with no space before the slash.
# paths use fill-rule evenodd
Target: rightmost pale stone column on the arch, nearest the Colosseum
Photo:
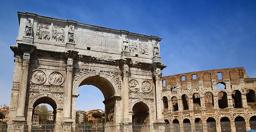
<path id="1" fill-rule="evenodd" d="M 154 79 L 156 80 L 156 112 L 157 112 L 157 120 L 156 122 L 164 122 L 163 114 L 162 114 L 162 73 L 161 69 L 156 68 L 154 72 Z"/>

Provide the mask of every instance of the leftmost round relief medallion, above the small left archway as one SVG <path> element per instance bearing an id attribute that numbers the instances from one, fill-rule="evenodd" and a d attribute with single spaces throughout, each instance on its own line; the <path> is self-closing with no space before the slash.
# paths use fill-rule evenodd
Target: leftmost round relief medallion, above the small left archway
<path id="1" fill-rule="evenodd" d="M 45 73 L 41 70 L 34 70 L 31 73 L 30 81 L 34 84 L 43 84 L 46 81 Z"/>

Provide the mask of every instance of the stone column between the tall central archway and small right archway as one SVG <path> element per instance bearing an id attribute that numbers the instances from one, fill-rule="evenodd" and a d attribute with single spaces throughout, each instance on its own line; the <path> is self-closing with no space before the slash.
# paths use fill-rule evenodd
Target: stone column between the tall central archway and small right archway
<path id="1" fill-rule="evenodd" d="M 122 122 L 129 123 L 129 89 L 128 89 L 128 74 L 129 74 L 129 66 L 127 64 L 124 64 L 124 67 L 122 69 L 122 81 L 124 84 L 124 90 L 123 90 L 123 117 Z"/>

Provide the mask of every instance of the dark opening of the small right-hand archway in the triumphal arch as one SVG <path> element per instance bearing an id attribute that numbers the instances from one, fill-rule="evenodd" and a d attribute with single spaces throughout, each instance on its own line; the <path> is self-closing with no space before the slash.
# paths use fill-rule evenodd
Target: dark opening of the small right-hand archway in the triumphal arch
<path id="1" fill-rule="evenodd" d="M 132 107 L 132 123 L 149 123 L 150 109 L 143 102 L 138 102 Z"/>

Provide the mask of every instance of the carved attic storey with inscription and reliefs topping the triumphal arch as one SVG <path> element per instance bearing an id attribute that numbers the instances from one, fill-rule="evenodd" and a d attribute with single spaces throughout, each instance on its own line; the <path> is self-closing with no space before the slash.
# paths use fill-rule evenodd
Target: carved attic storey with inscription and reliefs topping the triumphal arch
<path id="1" fill-rule="evenodd" d="M 18 17 L 20 27 L 17 43 L 23 41 L 23 36 L 31 36 L 36 48 L 42 50 L 60 52 L 65 52 L 67 49 L 76 50 L 79 54 L 106 59 L 119 59 L 125 56 L 146 63 L 152 63 L 152 58 L 157 56 L 158 61 L 161 61 L 159 41 L 162 38 L 156 36 L 33 13 L 18 12 Z M 31 26 L 31 34 L 26 33 L 29 26 Z"/>

